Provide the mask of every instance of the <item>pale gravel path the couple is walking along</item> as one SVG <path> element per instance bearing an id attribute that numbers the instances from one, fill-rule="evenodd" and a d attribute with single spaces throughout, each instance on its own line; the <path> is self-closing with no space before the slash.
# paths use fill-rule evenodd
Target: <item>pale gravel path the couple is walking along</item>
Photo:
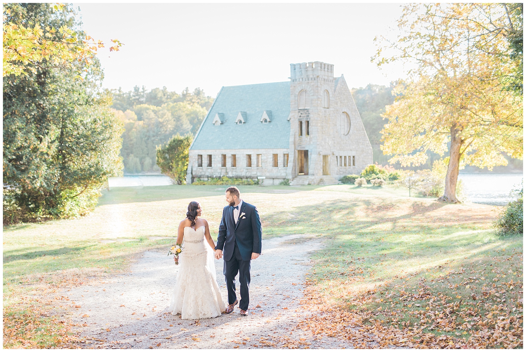
<path id="1" fill-rule="evenodd" d="M 320 246 L 319 239 L 304 241 L 301 235 L 263 240 L 263 253 L 251 264 L 248 316 L 240 316 L 239 307 L 200 321 L 169 314 L 178 268 L 165 251 L 147 251 L 129 273 L 64 294 L 78 307 L 72 318 L 83 325 L 85 348 L 352 348 L 343 340 L 315 339 L 295 329 L 301 316 L 311 314 L 300 308 L 299 299 L 309 252 Z M 222 259 L 216 260 L 226 302 L 222 268 Z"/>

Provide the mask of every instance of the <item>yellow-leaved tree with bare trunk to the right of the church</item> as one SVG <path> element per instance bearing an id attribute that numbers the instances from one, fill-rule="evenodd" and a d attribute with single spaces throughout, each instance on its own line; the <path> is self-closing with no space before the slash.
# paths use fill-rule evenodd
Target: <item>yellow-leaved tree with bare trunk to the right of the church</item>
<path id="1" fill-rule="evenodd" d="M 506 165 L 502 153 L 522 158 L 522 96 L 506 89 L 514 69 L 506 18 L 498 4 L 405 5 L 400 36 L 382 37 L 373 58 L 406 63 L 412 80 L 398 84 L 382 115 L 382 151 L 401 166 L 449 152 L 442 200 L 458 202 L 463 165 Z"/>

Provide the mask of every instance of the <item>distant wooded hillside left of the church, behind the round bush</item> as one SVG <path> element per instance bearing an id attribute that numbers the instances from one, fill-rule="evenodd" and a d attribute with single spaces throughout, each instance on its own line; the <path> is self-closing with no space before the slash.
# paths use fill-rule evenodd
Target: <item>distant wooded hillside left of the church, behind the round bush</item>
<path id="1" fill-rule="evenodd" d="M 175 134 L 195 134 L 213 99 L 199 88 L 181 94 L 154 88 L 135 87 L 123 92 L 113 90 L 113 107 L 124 122 L 123 148 L 126 173 L 159 170 L 153 162 L 156 146 L 168 142 Z"/>

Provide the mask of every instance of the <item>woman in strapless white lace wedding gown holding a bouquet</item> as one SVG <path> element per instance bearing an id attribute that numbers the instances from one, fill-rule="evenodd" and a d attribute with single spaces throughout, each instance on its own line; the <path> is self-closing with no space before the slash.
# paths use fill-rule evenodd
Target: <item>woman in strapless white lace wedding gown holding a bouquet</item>
<path id="1" fill-rule="evenodd" d="M 184 247 L 179 254 L 179 272 L 168 309 L 173 315 L 180 313 L 181 319 L 214 318 L 226 308 L 216 282 L 216 245 L 208 222 L 198 218 L 201 211 L 199 203 L 191 201 L 177 232 L 177 243 L 183 242 Z"/>

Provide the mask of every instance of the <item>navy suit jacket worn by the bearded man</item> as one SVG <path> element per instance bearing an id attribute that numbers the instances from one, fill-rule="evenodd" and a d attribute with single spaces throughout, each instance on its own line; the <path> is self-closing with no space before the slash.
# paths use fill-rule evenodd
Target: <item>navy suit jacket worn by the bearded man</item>
<path id="1" fill-rule="evenodd" d="M 245 214 L 241 216 L 243 213 Z M 234 211 L 227 205 L 223 208 L 216 249 L 223 251 L 225 260 L 230 260 L 237 243 L 241 258 L 250 260 L 252 253 L 261 254 L 261 234 L 261 220 L 255 206 L 243 201 L 236 224 Z"/>

